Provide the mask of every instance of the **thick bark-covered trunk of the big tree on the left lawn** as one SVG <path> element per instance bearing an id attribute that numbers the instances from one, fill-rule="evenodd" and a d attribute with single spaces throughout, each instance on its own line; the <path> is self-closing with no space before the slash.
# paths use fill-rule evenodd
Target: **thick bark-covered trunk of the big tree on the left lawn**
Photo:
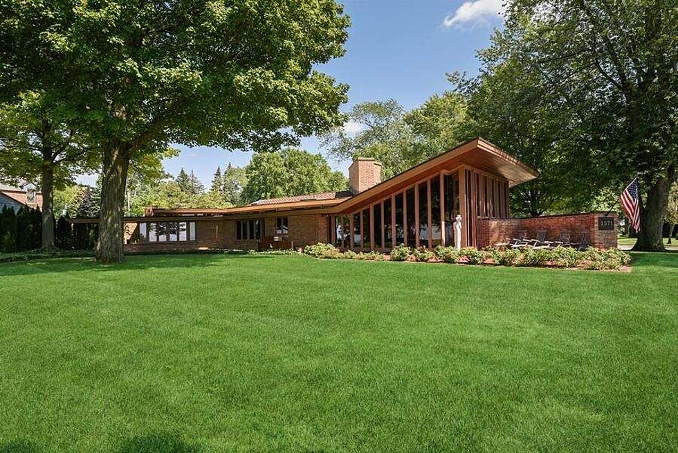
<path id="1" fill-rule="evenodd" d="M 110 145 L 102 159 L 101 213 L 96 258 L 102 263 L 122 263 L 122 229 L 129 147 Z"/>

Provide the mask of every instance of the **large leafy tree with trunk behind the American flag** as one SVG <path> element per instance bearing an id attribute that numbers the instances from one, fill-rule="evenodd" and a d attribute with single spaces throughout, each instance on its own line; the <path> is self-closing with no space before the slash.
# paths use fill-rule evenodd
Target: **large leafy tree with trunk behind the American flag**
<path id="1" fill-rule="evenodd" d="M 678 165 L 675 5 L 513 0 L 506 29 L 516 57 L 576 118 L 571 133 L 595 163 L 581 180 L 621 188 L 638 175 L 645 199 L 634 249 L 663 250 L 661 227 Z"/>

